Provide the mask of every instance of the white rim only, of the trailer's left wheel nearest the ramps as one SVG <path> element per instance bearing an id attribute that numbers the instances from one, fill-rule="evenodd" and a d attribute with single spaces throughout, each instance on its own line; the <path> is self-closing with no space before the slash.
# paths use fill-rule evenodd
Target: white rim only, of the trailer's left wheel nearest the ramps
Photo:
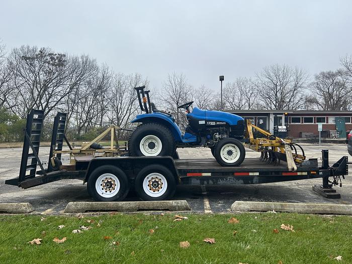
<path id="1" fill-rule="evenodd" d="M 96 191 L 101 197 L 114 197 L 119 190 L 120 181 L 114 174 L 104 173 L 98 177 L 96 181 Z"/>

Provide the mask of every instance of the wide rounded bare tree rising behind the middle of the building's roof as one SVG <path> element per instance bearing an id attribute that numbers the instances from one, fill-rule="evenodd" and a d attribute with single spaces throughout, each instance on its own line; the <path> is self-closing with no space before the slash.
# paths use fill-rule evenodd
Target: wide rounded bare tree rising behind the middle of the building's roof
<path id="1" fill-rule="evenodd" d="M 299 68 L 274 64 L 256 74 L 255 85 L 263 109 L 299 109 L 304 105 L 303 90 L 308 74 Z"/>

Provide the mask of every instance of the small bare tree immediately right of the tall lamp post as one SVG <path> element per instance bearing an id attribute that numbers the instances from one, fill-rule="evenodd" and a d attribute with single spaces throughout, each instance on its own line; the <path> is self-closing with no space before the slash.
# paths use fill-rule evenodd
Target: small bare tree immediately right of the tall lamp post
<path id="1" fill-rule="evenodd" d="M 257 102 L 257 89 L 250 78 L 239 77 L 226 83 L 223 90 L 224 108 L 253 109 Z"/>

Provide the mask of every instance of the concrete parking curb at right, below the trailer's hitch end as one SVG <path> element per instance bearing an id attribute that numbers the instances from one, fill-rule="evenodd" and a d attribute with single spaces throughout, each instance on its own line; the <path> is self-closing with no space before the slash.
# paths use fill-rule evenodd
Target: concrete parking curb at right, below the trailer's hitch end
<path id="1" fill-rule="evenodd" d="M 277 211 L 304 214 L 352 215 L 352 205 L 308 204 L 308 203 L 274 203 L 236 201 L 231 211 Z"/>

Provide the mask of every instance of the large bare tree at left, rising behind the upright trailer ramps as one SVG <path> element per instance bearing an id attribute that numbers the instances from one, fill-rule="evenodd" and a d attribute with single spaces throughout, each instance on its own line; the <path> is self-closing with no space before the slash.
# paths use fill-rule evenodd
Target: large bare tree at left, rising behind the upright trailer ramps
<path id="1" fill-rule="evenodd" d="M 35 46 L 13 49 L 10 66 L 17 92 L 15 111 L 22 118 L 32 108 L 44 110 L 44 116 L 58 109 L 74 88 L 98 69 L 89 56 L 68 57 Z"/>

